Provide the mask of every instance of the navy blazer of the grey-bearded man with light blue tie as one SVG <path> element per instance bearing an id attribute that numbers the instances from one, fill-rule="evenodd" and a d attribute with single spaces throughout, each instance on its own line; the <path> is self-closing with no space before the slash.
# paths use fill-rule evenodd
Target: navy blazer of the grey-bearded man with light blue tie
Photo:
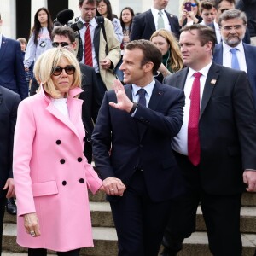
<path id="1" fill-rule="evenodd" d="M 247 77 L 253 90 L 253 98 L 256 106 L 256 47 L 250 44 L 242 44 L 247 62 Z M 223 65 L 223 44 L 216 44 L 213 52 L 213 61 Z"/>

